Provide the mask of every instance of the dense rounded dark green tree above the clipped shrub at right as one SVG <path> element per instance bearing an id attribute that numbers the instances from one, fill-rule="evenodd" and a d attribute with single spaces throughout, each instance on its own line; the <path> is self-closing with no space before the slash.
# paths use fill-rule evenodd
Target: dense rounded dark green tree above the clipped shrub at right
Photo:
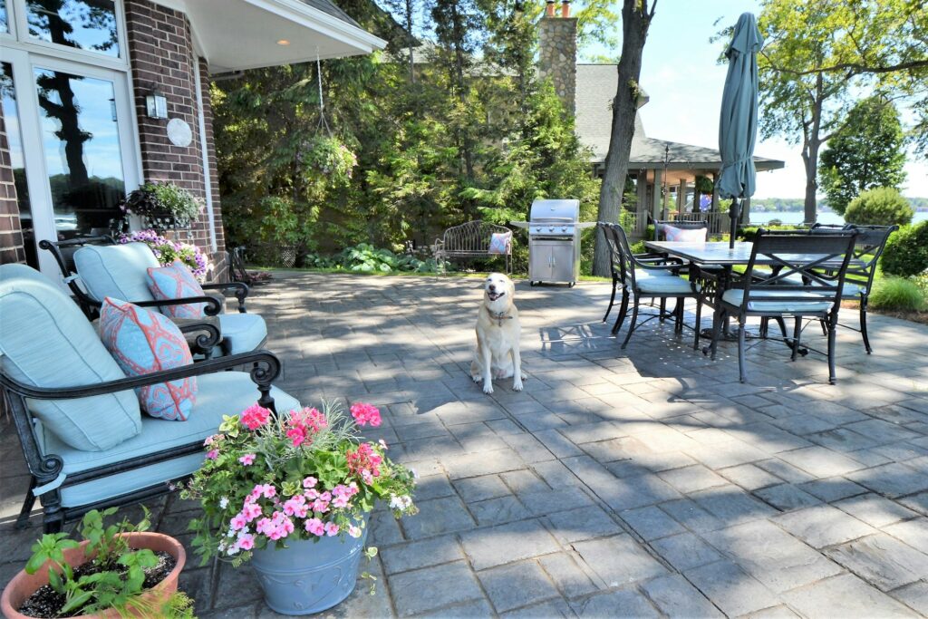
<path id="1" fill-rule="evenodd" d="M 821 153 L 819 185 L 831 210 L 844 214 L 861 192 L 902 185 L 906 179 L 904 148 L 905 132 L 892 101 L 883 97 L 857 101 Z"/>

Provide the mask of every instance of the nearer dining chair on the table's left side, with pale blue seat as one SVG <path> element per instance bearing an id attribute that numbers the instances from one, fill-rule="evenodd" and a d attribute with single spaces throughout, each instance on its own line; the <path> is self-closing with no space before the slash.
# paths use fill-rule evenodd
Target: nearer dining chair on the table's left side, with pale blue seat
<path id="1" fill-rule="evenodd" d="M 619 265 L 619 277 L 622 280 L 622 304 L 619 307 L 619 316 L 612 326 L 612 333 L 618 333 L 625 322 L 628 304 L 632 304 L 632 317 L 628 324 L 628 332 L 622 348 L 628 345 L 632 333 L 641 325 L 653 318 L 663 318 L 666 314 L 661 306 L 657 306 L 658 313 L 650 315 L 638 323 L 638 308 L 642 299 L 656 299 L 664 303 L 666 299 L 676 299 L 677 305 L 672 312 L 675 318 L 674 330 L 679 333 L 683 330 L 683 303 L 686 299 L 694 299 L 696 290 L 687 279 L 679 277 L 676 272 L 680 264 L 658 264 L 639 259 L 631 251 L 625 230 L 618 224 L 600 224 L 606 235 L 606 242 L 612 254 L 612 262 Z M 652 305 L 653 306 L 653 305 Z"/>

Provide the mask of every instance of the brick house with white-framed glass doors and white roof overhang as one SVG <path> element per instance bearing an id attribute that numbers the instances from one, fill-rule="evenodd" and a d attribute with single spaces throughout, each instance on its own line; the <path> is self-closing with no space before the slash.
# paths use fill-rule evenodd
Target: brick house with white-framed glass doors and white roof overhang
<path id="1" fill-rule="evenodd" d="M 64 160 L 65 156 L 56 152 L 58 145 L 48 137 L 54 130 L 54 122 L 60 119 L 49 122 L 51 114 L 42 105 L 47 105 L 47 100 L 41 101 L 39 106 L 28 100 L 35 97 L 37 75 L 41 71 L 38 67 L 45 67 L 47 62 L 47 66 L 54 67 L 49 71 L 69 71 L 67 74 L 70 74 L 70 67 L 58 69 L 57 66 L 72 61 L 83 63 L 75 65 L 75 75 L 71 75 L 77 81 L 84 80 L 82 67 L 89 78 L 97 79 L 100 79 L 97 64 L 104 71 L 113 69 L 114 78 L 104 73 L 102 79 L 110 80 L 115 90 L 110 105 L 112 121 L 118 120 L 122 132 L 115 139 L 118 140 L 116 152 L 122 157 L 124 190 L 130 191 L 143 182 L 172 181 L 203 200 L 206 207 L 200 217 L 189 229 L 175 231 L 174 238 L 193 243 L 206 252 L 212 264 L 209 277 L 225 280 L 228 265 L 213 148 L 212 77 L 217 73 L 304 62 L 317 56 L 341 58 L 364 54 L 385 45 L 364 32 L 329 0 L 301 0 L 299 3 L 292 0 L 114 0 L 112 23 L 118 25 L 111 28 L 114 37 L 118 33 L 116 49 L 119 51 L 97 62 L 93 57 L 101 48 L 99 45 L 71 44 L 60 33 L 58 40 L 54 36 L 45 40 L 36 38 L 31 32 L 32 26 L 28 25 L 36 18 L 30 15 L 27 24 L 24 17 L 32 10 L 25 0 L 6 0 L 6 8 L 9 26 L 6 32 L 0 30 L 0 44 L 4 45 L 0 59 L 4 62 L 7 90 L 15 83 L 12 89 L 15 97 L 4 100 L 17 106 L 17 110 L 0 108 L 3 112 L 0 113 L 0 264 L 28 262 L 41 267 L 50 277 L 57 277 L 57 274 L 49 259 L 41 255 L 46 252 L 35 248 L 37 242 L 43 238 L 61 239 L 61 230 L 69 230 L 64 233 L 67 237 L 89 232 L 80 229 L 79 222 L 74 223 L 79 213 L 65 213 L 61 217 L 60 213 L 53 212 L 49 202 L 49 191 L 54 193 L 54 187 L 48 187 L 52 183 L 49 176 L 53 172 L 62 174 L 55 160 L 58 157 Z M 48 19 L 49 23 L 55 18 L 61 21 L 79 19 L 73 15 L 66 15 L 62 9 L 60 15 L 40 16 L 39 19 Z M 61 32 L 67 32 L 68 37 L 76 40 L 86 36 L 79 32 L 80 27 L 87 26 L 78 24 L 72 32 L 66 28 Z M 52 28 L 48 30 L 51 32 Z M 7 46 L 11 50 L 12 64 L 7 63 Z M 15 58 L 19 58 L 19 68 Z M 32 67 L 36 67 L 34 75 Z M 89 78 L 88 83 L 91 82 Z M 156 92 L 167 101 L 166 119 L 148 116 L 146 97 Z M 91 107 L 93 104 L 88 99 L 85 97 L 79 103 Z M 100 111 L 98 102 L 96 113 L 98 118 L 108 116 Z M 175 146 L 168 139 L 167 123 L 174 119 L 180 119 L 190 128 L 192 140 L 187 146 Z M 32 124 L 27 126 L 30 122 Z M 126 124 L 131 131 L 126 131 Z M 13 139 L 15 136 L 7 135 L 10 126 L 25 127 L 26 132 Z M 80 130 L 93 135 L 84 126 Z M 49 141 L 51 147 L 44 146 L 43 141 Z M 11 149 L 11 144 L 23 152 L 32 148 L 32 156 L 29 152 L 18 151 L 17 165 L 21 169 L 17 168 L 19 177 L 16 179 L 12 161 L 16 158 L 11 157 L 16 148 Z M 98 166 L 98 152 L 96 156 Z M 69 165 L 72 161 L 75 160 L 68 159 Z M 48 162 L 45 167 L 44 162 Z M 31 165 L 35 172 L 30 171 Z M 70 167 L 65 166 L 64 175 L 70 174 Z M 84 179 L 86 174 L 84 172 Z M 23 200 L 24 203 L 31 206 L 28 217 L 20 213 L 18 198 L 23 196 L 18 196 L 18 186 L 29 187 L 28 192 L 22 192 L 28 194 L 28 202 Z M 104 208 L 100 202 L 94 204 L 97 210 Z M 45 226 L 44 232 L 37 222 Z M 77 232 L 74 232 L 75 227 L 79 228 Z"/>

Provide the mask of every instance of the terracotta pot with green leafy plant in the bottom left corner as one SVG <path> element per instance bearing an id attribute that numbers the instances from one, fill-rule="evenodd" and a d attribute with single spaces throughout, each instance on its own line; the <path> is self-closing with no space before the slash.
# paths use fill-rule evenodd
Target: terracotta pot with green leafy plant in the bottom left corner
<path id="1" fill-rule="evenodd" d="M 187 554 L 174 537 L 149 533 L 148 513 L 136 525 L 107 525 L 116 512 L 84 515 L 83 542 L 45 534 L 0 599 L 7 619 L 27 617 L 190 616 L 177 578 Z"/>

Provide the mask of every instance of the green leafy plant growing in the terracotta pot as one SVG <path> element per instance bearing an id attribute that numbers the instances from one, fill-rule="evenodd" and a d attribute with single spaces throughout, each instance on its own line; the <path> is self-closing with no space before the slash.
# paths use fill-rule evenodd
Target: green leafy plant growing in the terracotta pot
<path id="1" fill-rule="evenodd" d="M 84 558 L 96 568 L 92 574 L 75 576 L 74 569 L 64 561 L 64 550 L 79 548 L 67 533 L 45 534 L 32 545 L 32 557 L 26 563 L 26 573 L 35 574 L 51 562 L 48 585 L 65 603 L 60 613 L 90 614 L 106 609 L 124 611 L 137 601 L 145 582 L 145 570 L 158 564 L 158 557 L 148 548 L 131 549 L 122 534 L 148 530 L 148 511 L 138 524 L 122 520 L 107 525 L 104 518 L 116 513 L 116 508 L 84 515 L 81 535 L 88 542 Z"/>

